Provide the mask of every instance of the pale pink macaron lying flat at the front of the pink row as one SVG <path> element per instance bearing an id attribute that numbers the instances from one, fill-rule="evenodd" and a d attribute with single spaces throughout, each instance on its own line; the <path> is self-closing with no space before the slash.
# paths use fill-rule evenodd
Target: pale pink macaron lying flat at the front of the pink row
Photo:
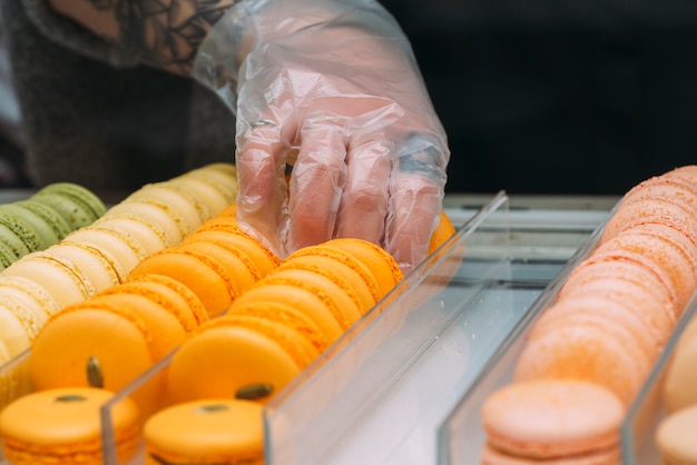
<path id="1" fill-rule="evenodd" d="M 610 390 L 570 379 L 510 384 L 494 390 L 481 409 L 493 451 L 539 463 L 618 447 L 624 417 L 625 406 Z"/>

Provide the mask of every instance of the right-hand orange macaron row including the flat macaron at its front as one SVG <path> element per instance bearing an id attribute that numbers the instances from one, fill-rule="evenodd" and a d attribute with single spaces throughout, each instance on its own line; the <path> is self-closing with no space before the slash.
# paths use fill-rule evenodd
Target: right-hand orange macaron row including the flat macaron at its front
<path id="1" fill-rule="evenodd" d="M 233 227 L 219 220 L 190 239 Z M 394 258 L 361 239 L 333 239 L 285 258 L 174 354 L 167 369 L 174 405 L 146 421 L 147 463 L 263 463 L 262 406 L 401 279 Z"/>

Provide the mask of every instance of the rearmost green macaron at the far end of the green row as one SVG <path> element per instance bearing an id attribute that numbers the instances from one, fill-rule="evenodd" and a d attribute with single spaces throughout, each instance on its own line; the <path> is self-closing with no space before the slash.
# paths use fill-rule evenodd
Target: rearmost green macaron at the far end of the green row
<path id="1" fill-rule="evenodd" d="M 92 191 L 72 182 L 50 184 L 39 189 L 30 199 L 53 208 L 73 230 L 91 225 L 107 210 Z"/>

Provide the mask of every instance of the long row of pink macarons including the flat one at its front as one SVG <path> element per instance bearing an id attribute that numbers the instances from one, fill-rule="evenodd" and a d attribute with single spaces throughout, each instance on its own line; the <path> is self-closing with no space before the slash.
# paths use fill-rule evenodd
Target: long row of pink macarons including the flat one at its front
<path id="1" fill-rule="evenodd" d="M 513 383 L 484 402 L 484 463 L 619 462 L 626 408 L 697 289 L 695 174 L 676 168 L 619 202 L 531 327 Z"/>

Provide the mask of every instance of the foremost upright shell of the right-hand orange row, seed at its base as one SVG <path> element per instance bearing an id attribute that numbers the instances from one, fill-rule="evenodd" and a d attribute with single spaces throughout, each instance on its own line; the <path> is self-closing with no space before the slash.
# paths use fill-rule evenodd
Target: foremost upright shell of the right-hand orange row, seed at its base
<path id="1" fill-rule="evenodd" d="M 229 398 L 239 388 L 267 383 L 278 393 L 301 372 L 268 337 L 237 326 L 213 327 L 181 345 L 167 372 L 174 403 Z"/>

